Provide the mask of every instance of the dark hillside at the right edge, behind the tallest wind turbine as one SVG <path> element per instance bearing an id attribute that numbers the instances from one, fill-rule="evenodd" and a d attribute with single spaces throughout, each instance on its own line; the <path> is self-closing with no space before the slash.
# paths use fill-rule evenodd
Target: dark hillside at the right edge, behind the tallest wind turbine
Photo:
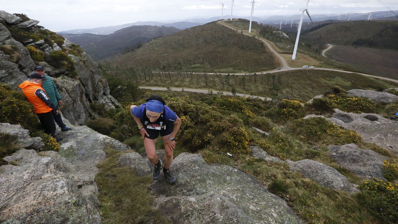
<path id="1" fill-rule="evenodd" d="M 355 45 L 398 50 L 397 21 L 354 21 L 334 23 L 302 36 L 312 46 Z M 301 39 L 300 39 L 301 40 Z"/>

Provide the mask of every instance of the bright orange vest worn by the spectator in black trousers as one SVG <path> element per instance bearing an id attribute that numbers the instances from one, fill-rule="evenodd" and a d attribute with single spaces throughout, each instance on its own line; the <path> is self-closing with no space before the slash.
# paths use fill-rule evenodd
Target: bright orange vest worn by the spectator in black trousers
<path id="1" fill-rule="evenodd" d="M 25 94 L 27 101 L 33 104 L 34 107 L 33 112 L 35 114 L 47 113 L 53 110 L 51 109 L 51 107 L 47 106 L 47 104 L 43 102 L 41 98 L 35 95 L 37 89 L 41 89 L 43 90 L 43 92 L 45 92 L 44 89 L 41 88 L 41 85 L 39 83 L 32 83 L 30 81 L 25 81 L 21 83 L 19 87 L 22 88 L 22 92 L 23 94 Z"/>

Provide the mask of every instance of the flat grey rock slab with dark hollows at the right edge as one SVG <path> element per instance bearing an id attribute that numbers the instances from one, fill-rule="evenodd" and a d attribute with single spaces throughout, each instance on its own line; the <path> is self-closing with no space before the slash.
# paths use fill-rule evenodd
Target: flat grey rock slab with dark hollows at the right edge
<path id="1" fill-rule="evenodd" d="M 361 134 L 363 140 L 373 142 L 398 153 L 398 122 L 393 121 L 379 114 L 355 114 L 346 113 L 334 109 L 332 118 L 326 118 L 336 125 L 345 129 L 355 130 Z"/>

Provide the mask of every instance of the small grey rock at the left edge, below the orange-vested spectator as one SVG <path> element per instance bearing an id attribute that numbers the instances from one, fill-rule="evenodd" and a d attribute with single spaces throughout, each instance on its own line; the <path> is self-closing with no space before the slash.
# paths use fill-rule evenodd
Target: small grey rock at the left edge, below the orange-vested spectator
<path id="1" fill-rule="evenodd" d="M 29 131 L 23 129 L 19 124 L 0 123 L 0 130 L 16 137 L 21 148 L 39 150 L 44 146 L 40 137 L 31 138 Z"/>

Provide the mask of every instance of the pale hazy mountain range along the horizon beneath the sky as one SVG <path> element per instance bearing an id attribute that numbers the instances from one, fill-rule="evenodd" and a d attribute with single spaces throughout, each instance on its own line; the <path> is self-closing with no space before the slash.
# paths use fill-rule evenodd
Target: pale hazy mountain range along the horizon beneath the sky
<path id="1" fill-rule="evenodd" d="M 372 20 L 398 20 L 398 16 L 395 17 L 386 17 L 388 16 L 388 13 L 391 13 L 392 11 L 379 11 L 379 12 L 368 12 L 368 13 L 343 13 L 341 16 L 340 14 L 314 14 L 311 15 L 312 21 L 313 22 L 321 22 L 321 21 L 326 21 L 326 20 L 338 20 L 339 21 L 346 21 L 346 20 L 367 20 L 368 16 L 372 14 Z M 300 20 L 300 14 L 296 15 L 281 15 L 281 16 L 258 16 L 258 17 L 253 17 L 252 20 L 255 22 L 258 22 L 259 24 L 269 24 L 275 27 L 279 27 L 280 22 L 282 22 L 283 26 L 287 28 L 287 25 L 291 25 L 292 20 L 293 20 L 293 26 L 295 24 L 298 24 Z M 340 16 L 340 18 L 338 18 Z M 230 18 L 231 16 L 225 15 L 223 16 L 224 19 Z M 232 16 L 232 18 L 242 18 L 242 19 L 247 19 L 250 20 L 250 16 Z M 73 33 L 73 34 L 81 34 L 81 33 L 93 33 L 93 34 L 99 34 L 99 35 L 109 35 L 119 29 L 127 28 L 130 26 L 141 26 L 141 25 L 149 25 L 149 26 L 166 26 L 166 27 L 175 27 L 177 29 L 187 29 L 191 28 L 194 26 L 200 26 L 203 24 L 207 24 L 209 22 L 217 21 L 220 20 L 221 16 L 215 16 L 211 18 L 187 18 L 183 21 L 180 22 L 173 22 L 173 23 L 164 23 L 164 22 L 156 22 L 156 21 L 139 21 L 135 23 L 129 23 L 129 24 L 123 24 L 123 25 L 117 25 L 117 26 L 107 26 L 107 27 L 97 27 L 97 28 L 90 28 L 90 29 L 72 29 L 72 30 L 66 30 L 66 31 L 60 31 L 58 32 L 59 34 L 64 34 L 64 33 Z M 310 18 L 306 14 L 304 14 L 304 23 L 311 22 Z M 286 23 L 286 25 L 285 25 Z M 293 27 L 292 26 L 292 27 Z M 303 29 L 306 29 L 303 27 Z"/>

